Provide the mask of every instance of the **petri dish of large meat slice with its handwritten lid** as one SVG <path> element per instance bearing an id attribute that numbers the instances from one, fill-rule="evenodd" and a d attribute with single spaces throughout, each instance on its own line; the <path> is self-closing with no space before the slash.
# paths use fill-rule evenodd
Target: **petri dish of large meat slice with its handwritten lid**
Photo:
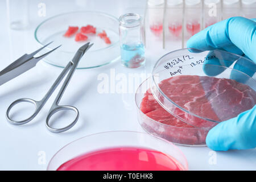
<path id="1" fill-rule="evenodd" d="M 256 64 L 220 51 L 180 49 L 161 57 L 135 94 L 144 130 L 204 146 L 208 131 L 256 104 Z"/>

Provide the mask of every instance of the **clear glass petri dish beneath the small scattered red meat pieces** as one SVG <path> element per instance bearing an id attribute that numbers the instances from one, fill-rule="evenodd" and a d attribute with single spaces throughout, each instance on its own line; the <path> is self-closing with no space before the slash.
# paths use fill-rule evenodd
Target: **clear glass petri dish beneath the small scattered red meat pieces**
<path id="1" fill-rule="evenodd" d="M 88 24 L 96 27 L 96 34 L 89 34 L 88 40 L 85 42 L 76 42 L 75 35 L 69 38 L 63 36 L 69 26 L 81 28 Z M 86 42 L 94 43 L 92 48 L 82 57 L 77 68 L 96 68 L 119 59 L 118 27 L 118 19 L 112 15 L 97 11 L 75 11 L 52 16 L 44 20 L 36 27 L 34 36 L 40 47 L 53 41 L 42 51 L 48 52 L 61 45 L 60 48 L 44 58 L 44 61 L 57 67 L 65 67 L 72 60 L 77 49 Z M 97 36 L 103 30 L 108 35 L 112 42 L 111 44 L 106 44 L 103 39 Z"/>

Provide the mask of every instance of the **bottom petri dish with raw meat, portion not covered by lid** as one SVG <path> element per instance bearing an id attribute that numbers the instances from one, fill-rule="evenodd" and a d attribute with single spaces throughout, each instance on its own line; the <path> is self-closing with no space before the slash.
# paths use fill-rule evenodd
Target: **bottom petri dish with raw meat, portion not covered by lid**
<path id="1" fill-rule="evenodd" d="M 138 122 L 148 134 L 183 146 L 205 146 L 209 128 L 193 127 L 175 118 L 152 96 L 151 77 L 139 85 L 135 93 Z"/>

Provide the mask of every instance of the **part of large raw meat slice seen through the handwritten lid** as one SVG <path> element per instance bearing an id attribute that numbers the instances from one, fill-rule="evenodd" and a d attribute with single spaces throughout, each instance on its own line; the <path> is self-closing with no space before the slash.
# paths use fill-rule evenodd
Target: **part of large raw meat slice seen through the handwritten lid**
<path id="1" fill-rule="evenodd" d="M 226 78 L 181 75 L 163 80 L 159 88 L 181 108 L 218 122 L 234 118 L 256 104 L 253 89 Z M 194 126 L 211 124 L 188 113 L 182 118 Z"/>

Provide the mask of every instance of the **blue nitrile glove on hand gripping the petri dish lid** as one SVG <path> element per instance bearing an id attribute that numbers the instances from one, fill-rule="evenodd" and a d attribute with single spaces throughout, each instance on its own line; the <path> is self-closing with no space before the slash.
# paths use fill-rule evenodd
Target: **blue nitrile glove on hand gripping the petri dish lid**
<path id="1" fill-rule="evenodd" d="M 248 57 L 256 63 L 256 23 L 254 21 L 256 19 L 242 17 L 223 20 L 192 36 L 187 42 L 187 47 L 205 51 L 224 49 Z M 254 63 L 247 65 L 247 68 L 251 67 L 250 70 L 241 67 L 245 63 L 235 65 L 234 69 L 253 76 L 256 70 Z M 209 148 L 216 151 L 256 147 L 256 106 L 236 118 L 213 127 L 207 135 L 206 143 Z"/>

